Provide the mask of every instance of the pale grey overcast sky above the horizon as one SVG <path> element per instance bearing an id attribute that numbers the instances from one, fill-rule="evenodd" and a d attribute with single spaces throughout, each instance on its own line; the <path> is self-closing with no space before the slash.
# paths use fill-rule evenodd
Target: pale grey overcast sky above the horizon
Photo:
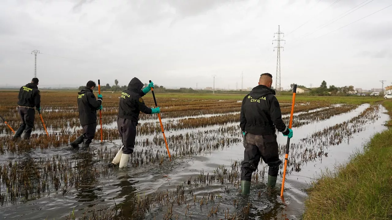
<path id="1" fill-rule="evenodd" d="M 0 85 L 28 83 L 34 76 L 31 51 L 40 50 L 41 86 L 79 86 L 90 79 L 110 85 L 118 79 L 119 85 L 128 85 L 137 77 L 165 87 L 196 88 L 198 83 L 204 88 L 213 86 L 216 75 L 216 88 L 236 88 L 237 82 L 241 88 L 241 72 L 244 88 L 256 86 L 264 72 L 273 75 L 275 86 L 277 45 L 272 40 L 280 25 L 286 40 L 282 87 L 317 87 L 325 80 L 339 87 L 381 88 L 379 80 L 387 80 L 385 86 L 392 83 L 392 7 L 352 22 L 391 4 L 1 0 Z M 353 8 L 359 9 L 338 19 Z"/>

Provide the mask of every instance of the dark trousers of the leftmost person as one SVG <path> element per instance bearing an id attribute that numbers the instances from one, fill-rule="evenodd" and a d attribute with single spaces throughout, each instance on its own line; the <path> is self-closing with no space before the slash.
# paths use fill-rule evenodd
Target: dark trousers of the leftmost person
<path id="1" fill-rule="evenodd" d="M 29 139 L 34 128 L 35 110 L 34 108 L 25 108 L 19 106 L 18 113 L 20 115 L 20 119 L 22 119 L 22 124 L 20 124 L 18 130 L 16 130 L 14 138 L 20 137 L 22 133 L 25 132 L 24 139 Z"/>

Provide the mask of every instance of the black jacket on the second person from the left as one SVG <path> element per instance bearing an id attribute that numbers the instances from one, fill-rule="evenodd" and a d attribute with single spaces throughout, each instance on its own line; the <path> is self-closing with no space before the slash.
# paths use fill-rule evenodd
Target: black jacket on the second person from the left
<path id="1" fill-rule="evenodd" d="M 91 88 L 83 88 L 78 92 L 78 110 L 80 124 L 93 124 L 97 122 L 97 110 L 102 105 L 102 100 L 95 99 Z"/>

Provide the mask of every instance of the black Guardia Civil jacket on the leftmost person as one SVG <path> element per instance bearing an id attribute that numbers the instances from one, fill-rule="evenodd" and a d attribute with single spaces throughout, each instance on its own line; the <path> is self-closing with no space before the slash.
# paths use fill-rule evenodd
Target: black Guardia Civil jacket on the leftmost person
<path id="1" fill-rule="evenodd" d="M 41 106 L 40 91 L 35 83 L 29 83 L 20 87 L 18 99 L 18 105 L 20 106 L 31 108 L 40 108 Z"/>

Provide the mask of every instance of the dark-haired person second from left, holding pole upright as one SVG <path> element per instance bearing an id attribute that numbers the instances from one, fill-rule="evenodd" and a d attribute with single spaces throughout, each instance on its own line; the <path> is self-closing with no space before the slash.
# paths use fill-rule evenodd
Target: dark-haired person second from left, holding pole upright
<path id="1" fill-rule="evenodd" d="M 73 148 L 83 143 L 83 148 L 90 146 L 95 136 L 97 126 L 97 110 L 102 109 L 102 95 L 95 98 L 93 90 L 96 87 L 94 81 L 88 81 L 85 88 L 78 92 L 79 120 L 83 127 L 83 134 L 71 142 Z"/>

